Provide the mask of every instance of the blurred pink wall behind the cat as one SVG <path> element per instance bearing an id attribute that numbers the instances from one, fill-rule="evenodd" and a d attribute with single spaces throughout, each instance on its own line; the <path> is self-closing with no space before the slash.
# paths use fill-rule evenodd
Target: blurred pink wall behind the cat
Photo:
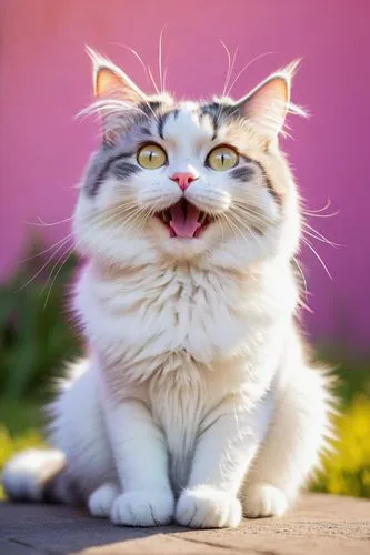
<path id="1" fill-rule="evenodd" d="M 168 87 L 178 95 L 221 92 L 227 60 L 218 39 L 239 53 L 236 71 L 254 57 L 233 89 L 244 94 L 280 65 L 302 56 L 293 100 L 309 121 L 291 119 L 289 152 L 310 209 L 332 201 L 340 214 L 312 219 L 331 240 L 313 241 L 333 282 L 306 250 L 314 316 L 309 329 L 329 341 L 368 345 L 369 311 L 369 0 L 1 0 L 0 3 L 0 271 L 21 259 L 26 236 L 42 230 L 51 243 L 71 214 L 76 183 L 97 142 L 92 122 L 74 120 L 91 99 L 84 44 L 111 57 L 142 87 L 150 84 L 136 48 L 158 74 L 166 23 Z M 329 210 L 330 212 L 331 210 Z M 62 251 L 61 251 L 62 252 Z"/>

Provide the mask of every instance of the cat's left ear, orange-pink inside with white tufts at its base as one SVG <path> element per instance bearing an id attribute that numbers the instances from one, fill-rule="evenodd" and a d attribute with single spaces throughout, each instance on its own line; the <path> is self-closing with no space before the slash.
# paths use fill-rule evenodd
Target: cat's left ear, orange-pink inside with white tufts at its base
<path id="1" fill-rule="evenodd" d="M 86 50 L 92 61 L 93 93 L 102 119 L 103 140 L 112 143 L 124 124 L 126 112 L 138 110 L 138 104 L 147 102 L 147 95 L 110 60 L 89 47 Z"/>

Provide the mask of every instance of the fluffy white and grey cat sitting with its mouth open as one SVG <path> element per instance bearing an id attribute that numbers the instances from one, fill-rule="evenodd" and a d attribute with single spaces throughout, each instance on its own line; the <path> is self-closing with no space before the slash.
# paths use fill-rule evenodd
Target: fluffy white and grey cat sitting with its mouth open
<path id="1" fill-rule="evenodd" d="M 279 147 L 292 63 L 236 101 L 147 95 L 90 50 L 102 140 L 73 218 L 88 356 L 49 407 L 52 448 L 12 500 L 82 501 L 116 525 L 282 515 L 331 434 L 303 345 L 300 199 Z"/>

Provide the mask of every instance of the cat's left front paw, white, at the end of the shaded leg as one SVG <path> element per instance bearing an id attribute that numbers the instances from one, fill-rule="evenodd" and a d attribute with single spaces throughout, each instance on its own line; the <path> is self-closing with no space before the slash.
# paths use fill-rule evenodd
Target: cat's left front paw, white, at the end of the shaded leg
<path id="1" fill-rule="evenodd" d="M 118 526 L 160 526 L 172 521 L 173 511 L 172 492 L 127 492 L 114 501 L 110 519 Z"/>

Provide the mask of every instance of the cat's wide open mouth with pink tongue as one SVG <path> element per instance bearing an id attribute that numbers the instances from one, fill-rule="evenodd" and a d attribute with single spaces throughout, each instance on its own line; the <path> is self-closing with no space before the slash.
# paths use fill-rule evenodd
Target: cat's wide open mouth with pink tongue
<path id="1" fill-rule="evenodd" d="M 169 229 L 171 238 L 198 238 L 213 222 L 210 214 L 197 209 L 186 199 L 181 199 L 156 215 Z"/>

